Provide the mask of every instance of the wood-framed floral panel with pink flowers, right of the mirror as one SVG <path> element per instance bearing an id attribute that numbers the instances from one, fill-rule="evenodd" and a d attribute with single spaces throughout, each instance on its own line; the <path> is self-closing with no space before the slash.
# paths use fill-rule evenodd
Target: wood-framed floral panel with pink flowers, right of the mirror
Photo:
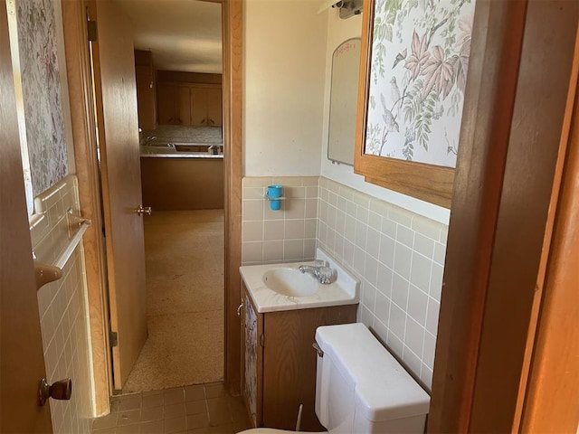
<path id="1" fill-rule="evenodd" d="M 474 0 L 365 0 L 355 172 L 450 207 Z"/>

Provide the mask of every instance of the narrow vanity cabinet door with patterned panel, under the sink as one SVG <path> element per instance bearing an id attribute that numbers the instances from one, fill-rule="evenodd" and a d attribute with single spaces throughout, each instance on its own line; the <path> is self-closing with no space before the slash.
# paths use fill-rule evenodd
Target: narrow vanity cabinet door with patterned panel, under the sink
<path id="1" fill-rule="evenodd" d="M 254 427 L 261 426 L 262 383 L 263 383 L 263 320 L 252 305 L 247 292 L 243 292 L 243 330 L 244 330 L 244 363 L 243 363 L 243 400 L 251 413 Z"/>

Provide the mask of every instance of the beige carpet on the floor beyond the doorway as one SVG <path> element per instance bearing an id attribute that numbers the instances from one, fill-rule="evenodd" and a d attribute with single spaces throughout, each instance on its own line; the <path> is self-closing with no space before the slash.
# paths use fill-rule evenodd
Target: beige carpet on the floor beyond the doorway
<path id="1" fill-rule="evenodd" d="M 148 339 L 123 392 L 223 379 L 223 210 L 145 220 Z"/>

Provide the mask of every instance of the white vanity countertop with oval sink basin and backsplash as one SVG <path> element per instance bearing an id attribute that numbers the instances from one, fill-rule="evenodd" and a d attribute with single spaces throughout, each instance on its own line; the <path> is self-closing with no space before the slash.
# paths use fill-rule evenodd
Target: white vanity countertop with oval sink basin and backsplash
<path id="1" fill-rule="evenodd" d="M 240 267 L 243 283 L 257 311 L 356 305 L 360 299 L 360 282 L 324 250 L 317 250 L 316 259 L 324 260 L 333 270 L 331 283 L 323 285 L 310 274 L 302 274 L 298 268 L 311 264 L 308 261 Z"/>

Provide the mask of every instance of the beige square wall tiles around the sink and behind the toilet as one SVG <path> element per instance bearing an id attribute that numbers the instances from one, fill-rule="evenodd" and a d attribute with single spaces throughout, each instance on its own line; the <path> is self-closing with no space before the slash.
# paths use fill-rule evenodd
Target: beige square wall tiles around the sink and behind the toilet
<path id="1" fill-rule="evenodd" d="M 263 199 L 284 185 L 280 212 Z M 430 391 L 448 227 L 323 176 L 243 179 L 242 263 L 326 250 L 361 282 L 358 321 Z"/>

